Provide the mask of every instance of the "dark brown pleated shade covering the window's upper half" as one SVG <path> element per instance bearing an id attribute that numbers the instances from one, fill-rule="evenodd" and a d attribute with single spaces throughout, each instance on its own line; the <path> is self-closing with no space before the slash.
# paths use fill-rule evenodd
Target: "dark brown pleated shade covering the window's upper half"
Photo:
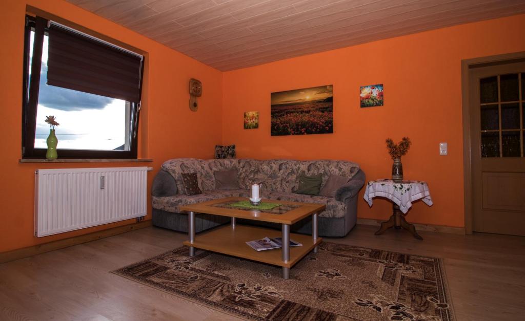
<path id="1" fill-rule="evenodd" d="M 51 24 L 47 84 L 140 102 L 142 59 Z"/>

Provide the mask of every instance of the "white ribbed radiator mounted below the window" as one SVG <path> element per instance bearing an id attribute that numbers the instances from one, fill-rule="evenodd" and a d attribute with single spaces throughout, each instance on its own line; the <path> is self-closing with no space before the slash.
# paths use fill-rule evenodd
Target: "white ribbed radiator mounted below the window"
<path id="1" fill-rule="evenodd" d="M 35 236 L 146 215 L 148 167 L 39 169 Z"/>

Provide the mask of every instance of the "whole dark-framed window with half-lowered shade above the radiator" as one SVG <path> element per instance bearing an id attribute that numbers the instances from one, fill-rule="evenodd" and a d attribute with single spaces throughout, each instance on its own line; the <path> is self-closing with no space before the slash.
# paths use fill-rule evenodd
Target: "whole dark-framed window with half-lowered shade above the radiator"
<path id="1" fill-rule="evenodd" d="M 137 158 L 142 68 L 137 53 L 27 16 L 23 157 L 45 156 L 53 115 L 60 158 Z"/>

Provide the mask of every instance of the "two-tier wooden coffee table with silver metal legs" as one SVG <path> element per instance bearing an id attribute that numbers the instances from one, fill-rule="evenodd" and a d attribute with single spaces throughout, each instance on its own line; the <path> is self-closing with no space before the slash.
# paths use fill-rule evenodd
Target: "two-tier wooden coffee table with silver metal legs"
<path id="1" fill-rule="evenodd" d="M 190 240 L 183 244 L 190 247 L 190 256 L 195 255 L 195 248 L 236 256 L 238 258 L 264 262 L 282 267 L 282 277 L 289 279 L 290 267 L 299 262 L 310 251 L 317 253 L 317 245 L 322 239 L 317 236 L 318 213 L 324 210 L 324 204 L 300 203 L 289 201 L 262 200 L 279 203 L 281 206 L 271 210 L 250 210 L 229 206 L 235 202 L 247 200 L 246 197 L 227 197 L 198 204 L 185 205 L 181 211 L 188 213 L 188 234 Z M 195 213 L 228 216 L 232 218 L 230 226 L 219 227 L 195 237 Z M 312 216 L 312 236 L 290 233 L 290 225 L 307 216 Z M 236 218 L 282 224 L 281 232 L 274 229 L 236 224 Z M 282 249 L 256 251 L 246 244 L 247 241 L 264 237 L 282 236 Z M 301 247 L 290 249 L 290 237 Z"/>

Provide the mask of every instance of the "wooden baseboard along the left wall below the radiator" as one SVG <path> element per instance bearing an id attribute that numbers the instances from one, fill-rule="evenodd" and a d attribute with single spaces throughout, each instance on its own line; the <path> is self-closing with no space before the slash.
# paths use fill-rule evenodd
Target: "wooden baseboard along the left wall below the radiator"
<path id="1" fill-rule="evenodd" d="M 12 250 L 0 253 L 0 263 L 5 263 L 9 261 L 15 261 L 18 259 L 27 258 L 29 256 L 46 253 L 50 251 L 55 251 L 58 249 L 64 249 L 67 247 L 71 247 L 73 245 L 82 244 L 86 242 L 91 242 L 103 238 L 107 238 L 110 236 L 114 236 L 117 234 L 122 234 L 129 231 L 139 230 L 146 227 L 152 226 L 151 220 L 133 223 L 133 224 L 127 224 L 124 226 L 118 226 L 115 228 L 92 232 L 89 234 L 83 234 L 80 236 L 67 238 L 63 240 L 53 241 L 49 243 L 43 243 L 38 245 L 31 245 L 27 248 Z"/>

